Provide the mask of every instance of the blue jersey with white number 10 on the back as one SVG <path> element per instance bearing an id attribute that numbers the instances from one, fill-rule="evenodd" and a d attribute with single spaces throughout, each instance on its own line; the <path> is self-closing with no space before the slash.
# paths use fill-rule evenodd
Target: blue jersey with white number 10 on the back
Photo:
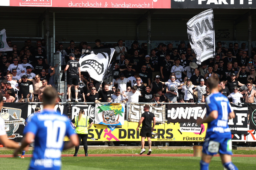
<path id="1" fill-rule="evenodd" d="M 54 110 L 35 114 L 23 134 L 35 134 L 35 147 L 29 169 L 60 169 L 65 135 L 74 134 L 68 118 Z"/>

